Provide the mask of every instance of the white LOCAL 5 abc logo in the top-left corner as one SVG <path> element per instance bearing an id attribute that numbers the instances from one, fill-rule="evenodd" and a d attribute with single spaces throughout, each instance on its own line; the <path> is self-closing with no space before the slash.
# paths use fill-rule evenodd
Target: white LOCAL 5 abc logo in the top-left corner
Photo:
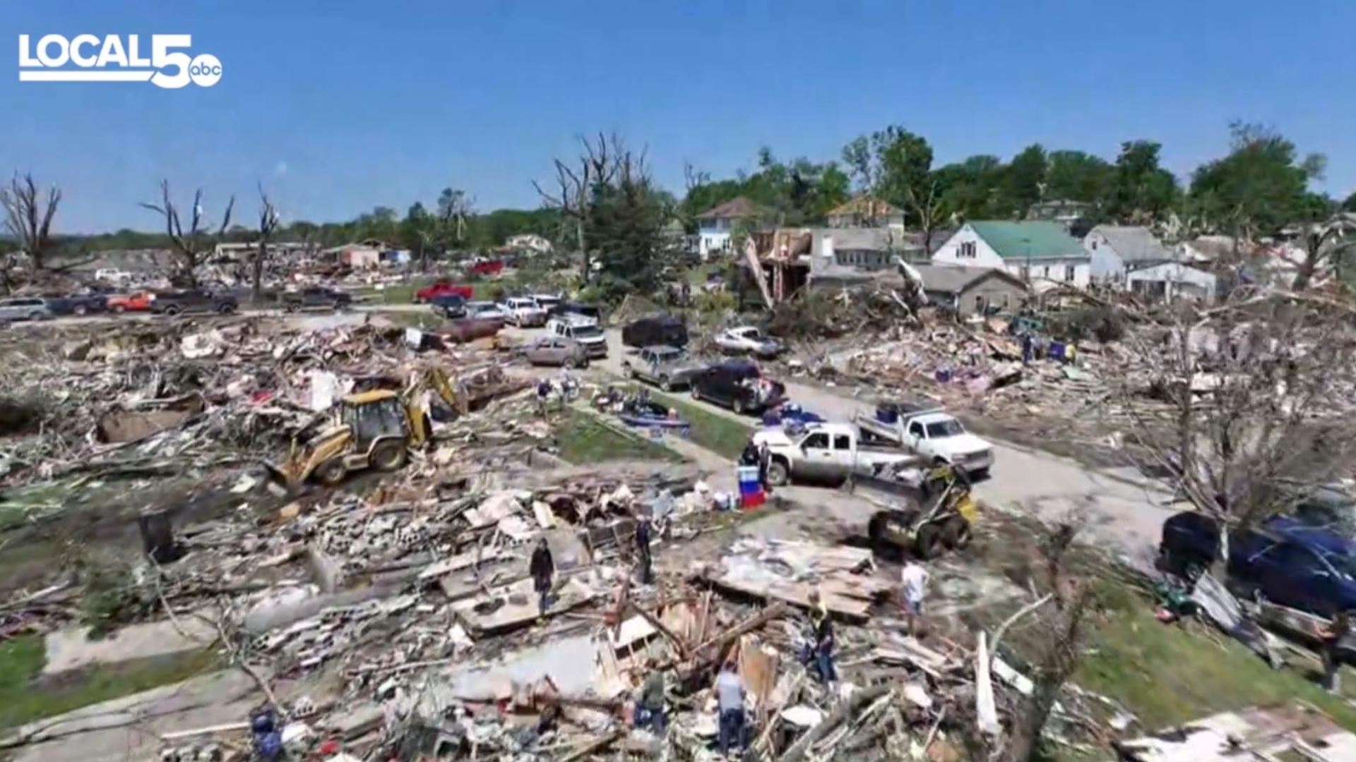
<path id="1" fill-rule="evenodd" d="M 19 81 L 149 81 L 178 89 L 221 81 L 221 61 L 210 53 L 191 56 L 191 34 L 151 35 L 151 57 L 136 34 L 45 34 L 37 43 L 19 35 Z"/>

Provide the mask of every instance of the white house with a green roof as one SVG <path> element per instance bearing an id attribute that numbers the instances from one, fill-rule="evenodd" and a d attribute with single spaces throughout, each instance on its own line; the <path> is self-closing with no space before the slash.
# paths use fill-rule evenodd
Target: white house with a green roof
<path id="1" fill-rule="evenodd" d="M 1036 290 L 1055 285 L 1086 287 L 1092 282 L 1092 256 L 1082 241 L 1059 222 L 1044 220 L 965 222 L 932 260 L 1006 270 Z"/>

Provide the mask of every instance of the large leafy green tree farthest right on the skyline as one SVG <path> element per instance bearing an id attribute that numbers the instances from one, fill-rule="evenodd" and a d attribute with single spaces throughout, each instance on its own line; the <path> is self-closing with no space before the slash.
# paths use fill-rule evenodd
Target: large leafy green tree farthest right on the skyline
<path id="1" fill-rule="evenodd" d="M 1303 220 L 1309 183 L 1321 178 L 1326 159 L 1299 157 L 1295 144 L 1271 127 L 1234 122 L 1230 152 L 1192 175 L 1193 206 L 1205 225 L 1243 239 L 1275 235 Z"/>

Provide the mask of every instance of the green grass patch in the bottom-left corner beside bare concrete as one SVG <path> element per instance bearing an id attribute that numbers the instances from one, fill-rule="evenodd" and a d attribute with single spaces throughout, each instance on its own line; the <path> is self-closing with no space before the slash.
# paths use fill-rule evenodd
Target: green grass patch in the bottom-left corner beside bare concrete
<path id="1" fill-rule="evenodd" d="M 171 685 L 220 667 L 210 649 L 95 666 L 46 678 L 39 677 L 43 663 L 42 636 L 24 635 L 0 643 L 0 728 Z"/>

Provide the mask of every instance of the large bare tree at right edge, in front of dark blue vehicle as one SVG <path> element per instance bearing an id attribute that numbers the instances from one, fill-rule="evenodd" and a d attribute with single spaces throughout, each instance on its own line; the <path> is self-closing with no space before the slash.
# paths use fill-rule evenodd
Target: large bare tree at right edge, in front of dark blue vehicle
<path id="1" fill-rule="evenodd" d="M 1223 578 L 1233 532 L 1257 527 L 1344 475 L 1356 456 L 1347 418 L 1356 393 L 1349 305 L 1235 287 L 1216 306 L 1178 305 L 1172 323 L 1130 340 L 1159 411 L 1132 407 L 1131 437 L 1176 494 L 1218 526 Z M 1281 489 L 1281 484 L 1298 488 Z"/>

